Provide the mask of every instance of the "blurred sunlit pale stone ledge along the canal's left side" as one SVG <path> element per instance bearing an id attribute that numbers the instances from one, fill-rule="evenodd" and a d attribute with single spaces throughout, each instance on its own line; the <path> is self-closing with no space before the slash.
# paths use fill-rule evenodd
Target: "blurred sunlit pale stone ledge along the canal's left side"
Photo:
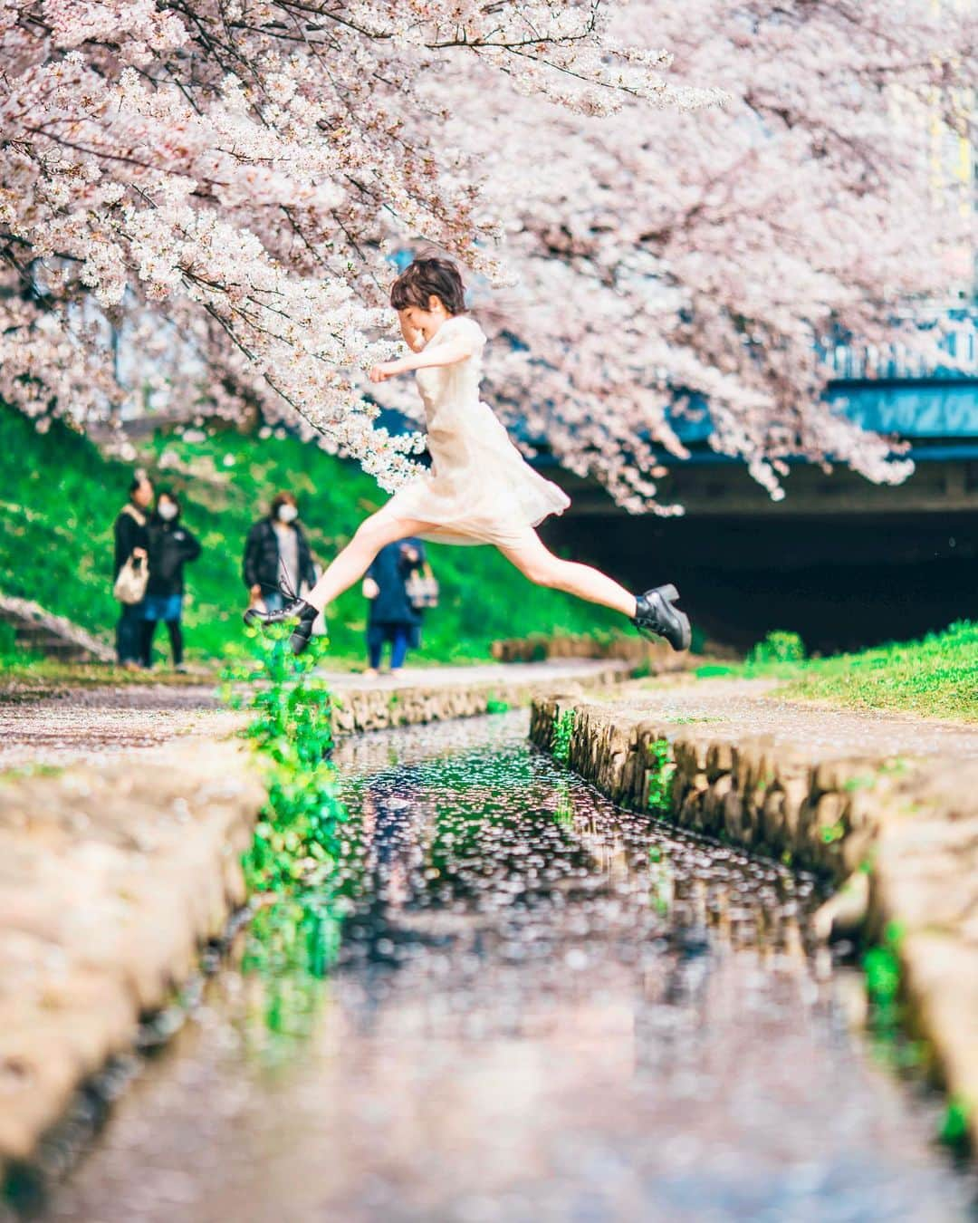
<path id="1" fill-rule="evenodd" d="M 0 1180 L 221 936 L 263 801 L 216 741 L 0 783 Z"/>

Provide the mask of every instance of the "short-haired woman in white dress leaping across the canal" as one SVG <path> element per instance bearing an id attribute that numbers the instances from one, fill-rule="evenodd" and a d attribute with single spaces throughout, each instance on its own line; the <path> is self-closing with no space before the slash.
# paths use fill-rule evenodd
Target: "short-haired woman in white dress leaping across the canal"
<path id="1" fill-rule="evenodd" d="M 361 523 L 306 598 L 293 597 L 276 612 L 252 608 L 246 620 L 292 623 L 292 649 L 301 653 L 323 608 L 363 577 L 385 544 L 421 536 L 438 543 L 495 544 L 532 582 L 614 608 L 641 632 L 688 649 L 689 620 L 674 607 L 675 586 L 636 597 L 599 570 L 555 556 L 537 534 L 534 527 L 550 514 L 562 514 L 570 500 L 526 462 L 479 399 L 485 335 L 465 313 L 455 264 L 416 259 L 394 283 L 390 301 L 411 352 L 374 366 L 370 382 L 416 374 L 432 468 Z"/>

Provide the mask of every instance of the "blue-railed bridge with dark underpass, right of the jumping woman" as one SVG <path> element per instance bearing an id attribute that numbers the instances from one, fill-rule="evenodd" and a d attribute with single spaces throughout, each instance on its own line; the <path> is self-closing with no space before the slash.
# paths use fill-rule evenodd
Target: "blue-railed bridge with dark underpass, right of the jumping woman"
<path id="1" fill-rule="evenodd" d="M 597 483 L 550 470 L 573 506 L 546 538 L 631 588 L 675 581 L 694 621 L 737 646 L 790 629 L 812 649 L 847 649 L 976 618 L 976 371 L 972 360 L 966 372 L 911 375 L 892 361 L 870 368 L 840 355 L 830 397 L 910 444 L 916 471 L 903 484 L 798 462 L 787 495 L 773 501 L 742 464 L 709 449 L 704 411 L 686 426 L 691 460 L 663 455 L 661 499 L 682 504 L 683 517 L 625 514 Z"/>

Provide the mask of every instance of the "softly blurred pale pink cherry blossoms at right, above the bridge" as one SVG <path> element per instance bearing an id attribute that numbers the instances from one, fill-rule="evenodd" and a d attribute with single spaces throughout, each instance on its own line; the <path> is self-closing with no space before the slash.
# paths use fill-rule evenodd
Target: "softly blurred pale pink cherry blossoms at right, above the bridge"
<path id="1" fill-rule="evenodd" d="M 522 275 L 496 312 L 526 351 L 494 367 L 496 397 L 632 510 L 655 499 L 654 444 L 685 454 L 667 413 L 691 402 L 775 498 L 793 456 L 901 481 L 900 446 L 825 402 L 825 358 L 851 339 L 933 360 L 921 316 L 971 297 L 974 6 L 686 0 L 630 21 L 675 53 L 676 83 L 719 82 L 727 104 L 455 113 L 495 154 Z"/>

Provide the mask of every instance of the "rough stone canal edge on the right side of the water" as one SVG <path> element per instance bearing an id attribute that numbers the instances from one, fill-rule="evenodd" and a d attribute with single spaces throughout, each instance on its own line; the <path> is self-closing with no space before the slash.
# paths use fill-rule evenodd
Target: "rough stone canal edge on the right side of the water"
<path id="1" fill-rule="evenodd" d="M 978 762 L 819 758 L 579 693 L 534 701 L 531 739 L 620 806 L 814 871 L 834 887 L 822 936 L 895 932 L 912 1027 L 976 1141 Z"/>

